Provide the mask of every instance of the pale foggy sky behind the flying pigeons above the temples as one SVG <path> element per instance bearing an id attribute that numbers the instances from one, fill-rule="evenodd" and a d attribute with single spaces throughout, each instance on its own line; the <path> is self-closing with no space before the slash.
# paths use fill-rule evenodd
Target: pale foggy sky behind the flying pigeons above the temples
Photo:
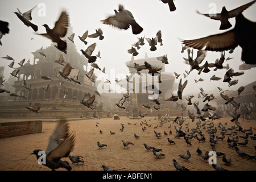
<path id="1" fill-rule="evenodd" d="M 115 69 L 115 74 L 125 73 L 129 74 L 129 70 L 125 65 L 126 61 L 131 60 L 131 54 L 127 52 L 127 49 L 131 48 L 131 45 L 138 41 L 137 38 L 145 36 L 145 38 L 152 38 L 156 36 L 156 32 L 162 31 L 163 46 L 159 44 L 156 46 L 157 50 L 154 52 L 150 51 L 146 39 L 144 40 L 145 45 L 138 50 L 139 55 L 135 56 L 134 59 L 143 59 L 145 53 L 148 57 L 157 56 L 168 56 L 169 64 L 166 65 L 166 72 L 177 72 L 180 73 L 180 78 L 183 78 L 185 70 L 189 71 L 190 66 L 184 63 L 183 57 L 188 57 L 187 50 L 181 53 L 181 42 L 180 39 L 196 39 L 204 36 L 213 34 L 220 34 L 228 30 L 221 31 L 220 21 L 212 20 L 206 16 L 196 13 L 199 10 L 200 13 L 209 13 L 216 9 L 217 13 L 220 13 L 222 6 L 226 6 L 227 10 L 235 9 L 238 6 L 244 5 L 249 1 L 191 1 L 191 0 L 176 0 L 174 1 L 176 11 L 170 12 L 167 4 L 162 3 L 159 0 L 93 0 L 93 1 L 14 1 L 14 0 L 1 0 L 0 1 L 0 19 L 9 22 L 10 32 L 9 34 L 3 35 L 0 46 L 0 57 L 9 55 L 15 59 L 14 67 L 18 67 L 18 63 L 22 59 L 30 59 L 30 63 L 33 63 L 33 55 L 31 52 L 44 48 L 51 45 L 51 40 L 44 38 L 43 36 L 36 35 L 45 33 L 46 30 L 42 26 L 48 24 L 50 28 L 54 27 L 56 20 L 59 18 L 61 10 L 65 9 L 69 13 L 70 24 L 75 32 L 75 45 L 77 52 L 81 54 L 80 49 L 86 49 L 90 44 L 96 43 L 96 49 L 93 55 L 96 55 L 98 51 L 101 52 L 102 59 L 97 58 L 96 63 L 99 67 L 106 68 L 106 73 L 110 75 L 110 69 Z M 131 11 L 138 24 L 143 27 L 143 31 L 139 35 L 133 35 L 131 28 L 128 30 L 119 30 L 112 26 L 102 24 L 100 20 L 107 18 L 109 15 L 114 15 L 114 9 L 118 9 L 118 5 L 122 4 L 125 9 Z M 38 7 L 40 5 L 40 7 Z M 42 6 L 43 5 L 43 6 Z M 44 9 L 45 5 L 45 9 Z M 16 8 L 22 13 L 36 8 L 32 11 L 31 22 L 38 25 L 39 30 L 34 32 L 31 27 L 26 27 L 14 14 Z M 45 10 L 45 11 L 44 11 Z M 42 14 L 45 12 L 45 14 Z M 246 9 L 243 15 L 255 22 L 256 21 L 256 3 Z M 229 19 L 230 23 L 234 27 L 235 19 Z M 88 44 L 85 46 L 82 43 L 78 35 L 84 34 L 86 30 L 89 34 L 93 34 L 96 29 L 101 28 L 104 40 L 98 40 L 87 38 Z M 230 29 L 231 29 L 230 28 Z M 69 36 L 69 35 L 68 35 Z M 30 40 L 34 38 L 35 40 Z M 64 38 L 67 39 L 67 36 Z M 67 39 L 67 41 L 69 41 Z M 194 50 L 194 57 L 196 57 L 196 51 Z M 61 53 L 61 52 L 60 52 Z M 208 60 L 208 63 L 214 62 L 219 59 L 221 52 L 207 52 L 207 57 L 202 64 Z M 228 51 L 225 52 L 226 57 L 234 57 L 232 60 L 228 60 L 224 63 L 229 64 L 230 68 L 234 71 L 238 71 L 241 61 L 241 48 L 237 47 L 232 54 Z M 5 66 L 5 78 L 9 78 L 10 72 L 13 69 L 9 68 L 8 65 L 11 63 L 10 60 L 0 58 L 0 66 Z M 203 87 L 205 90 L 217 90 L 217 86 L 224 89 L 236 90 L 240 86 L 250 84 L 255 81 L 255 69 L 253 68 L 245 72 L 244 75 L 239 76 L 238 84 L 235 86 L 228 87 L 228 83 L 220 81 L 209 81 L 210 77 L 216 75 L 218 77 L 224 77 L 226 69 L 211 71 L 209 73 L 201 73 L 197 75 L 197 71 L 192 71 L 190 75 L 183 78 L 183 82 L 188 80 L 188 85 L 184 89 L 184 94 L 190 92 L 199 92 L 199 88 Z M 96 75 L 100 71 L 94 71 Z M 195 84 L 194 79 L 204 78 L 205 81 L 197 82 Z M 179 82 L 176 79 L 175 82 Z"/>

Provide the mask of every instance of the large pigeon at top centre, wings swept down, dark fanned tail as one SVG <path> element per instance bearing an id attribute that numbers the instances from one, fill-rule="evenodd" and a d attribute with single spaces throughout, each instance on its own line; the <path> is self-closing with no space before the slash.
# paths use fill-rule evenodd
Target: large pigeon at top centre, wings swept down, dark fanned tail
<path id="1" fill-rule="evenodd" d="M 133 14 L 129 10 L 124 9 L 123 5 L 119 5 L 118 11 L 115 11 L 115 15 L 101 20 L 103 24 L 110 24 L 114 27 L 127 30 L 130 26 L 133 34 L 137 35 L 143 31 L 143 28 L 135 21 Z"/>

